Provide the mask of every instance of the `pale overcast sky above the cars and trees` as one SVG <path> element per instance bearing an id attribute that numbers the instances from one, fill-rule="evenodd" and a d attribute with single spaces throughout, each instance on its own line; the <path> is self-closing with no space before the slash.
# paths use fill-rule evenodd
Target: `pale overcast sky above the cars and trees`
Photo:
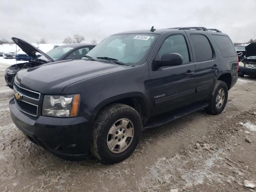
<path id="1" fill-rule="evenodd" d="M 116 32 L 204 26 L 233 42 L 256 38 L 256 0 L 3 0 L 0 39 L 62 42 L 80 34 L 100 42 Z"/>

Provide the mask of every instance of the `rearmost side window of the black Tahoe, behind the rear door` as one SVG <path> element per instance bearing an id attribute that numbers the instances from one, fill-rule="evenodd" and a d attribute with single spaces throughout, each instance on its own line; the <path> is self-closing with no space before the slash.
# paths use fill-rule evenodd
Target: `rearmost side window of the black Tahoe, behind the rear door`
<path id="1" fill-rule="evenodd" d="M 216 43 L 222 57 L 236 56 L 233 44 L 228 36 L 212 35 L 214 42 Z"/>

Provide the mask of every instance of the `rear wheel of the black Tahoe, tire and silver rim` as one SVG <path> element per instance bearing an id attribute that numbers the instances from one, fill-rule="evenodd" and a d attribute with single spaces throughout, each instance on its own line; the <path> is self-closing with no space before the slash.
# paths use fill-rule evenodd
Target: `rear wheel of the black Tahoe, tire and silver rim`
<path id="1" fill-rule="evenodd" d="M 224 93 L 224 98 L 223 98 L 223 93 Z M 204 110 L 208 114 L 218 115 L 224 110 L 227 100 L 228 100 L 228 86 L 224 81 L 218 80 L 216 82 L 214 90 L 212 91 L 210 99 L 208 100 L 209 106 Z"/>

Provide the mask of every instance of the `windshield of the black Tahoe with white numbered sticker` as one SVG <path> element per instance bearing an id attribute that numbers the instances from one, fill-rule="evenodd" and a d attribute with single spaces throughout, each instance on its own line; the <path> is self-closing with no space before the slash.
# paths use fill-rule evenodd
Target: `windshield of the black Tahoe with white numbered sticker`
<path id="1" fill-rule="evenodd" d="M 93 59 L 112 58 L 128 65 L 143 64 L 157 37 L 157 34 L 112 35 L 100 42 L 86 55 Z"/>

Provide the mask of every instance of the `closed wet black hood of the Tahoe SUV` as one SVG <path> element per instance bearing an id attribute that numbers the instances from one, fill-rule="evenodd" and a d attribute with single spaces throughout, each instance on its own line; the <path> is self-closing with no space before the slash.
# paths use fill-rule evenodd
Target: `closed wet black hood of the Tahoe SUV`
<path id="1" fill-rule="evenodd" d="M 61 94 L 70 84 L 126 67 L 90 60 L 64 60 L 20 70 L 15 82 L 41 94 Z"/>

